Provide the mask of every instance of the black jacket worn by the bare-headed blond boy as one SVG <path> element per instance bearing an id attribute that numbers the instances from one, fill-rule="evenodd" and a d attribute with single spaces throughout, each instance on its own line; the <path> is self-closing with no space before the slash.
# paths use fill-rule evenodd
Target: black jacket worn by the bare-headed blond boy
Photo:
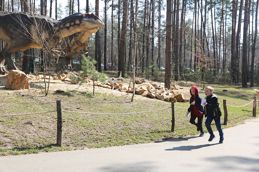
<path id="1" fill-rule="evenodd" d="M 221 110 L 219 108 L 219 101 L 218 97 L 214 94 L 211 94 L 208 97 L 205 97 L 207 105 L 204 106 L 205 109 L 205 118 L 207 115 L 210 115 L 211 117 L 215 117 L 215 119 L 221 117 Z"/>

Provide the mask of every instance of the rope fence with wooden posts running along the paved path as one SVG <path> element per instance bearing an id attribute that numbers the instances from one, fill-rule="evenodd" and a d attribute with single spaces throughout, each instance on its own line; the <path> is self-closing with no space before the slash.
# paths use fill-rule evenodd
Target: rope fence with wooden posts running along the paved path
<path id="1" fill-rule="evenodd" d="M 226 104 L 226 100 L 223 100 L 223 109 L 224 109 L 224 125 L 227 125 L 227 105 L 231 106 L 231 107 L 243 107 L 246 106 L 252 102 L 254 102 L 253 104 L 253 117 L 256 117 L 256 102 L 258 101 L 258 107 L 259 107 L 259 100 L 257 100 L 257 97 L 254 96 L 254 100 L 245 104 L 245 105 L 241 105 L 241 106 L 233 106 L 233 105 L 229 105 Z M 89 112 L 77 112 L 77 111 L 69 111 L 69 110 L 62 110 L 62 101 L 61 100 L 57 100 L 56 101 L 57 104 L 57 109 L 53 110 L 53 111 L 46 111 L 46 112 L 35 112 L 35 113 L 22 113 L 22 114 L 9 114 L 9 115 L 0 115 L 0 117 L 3 116 L 18 116 L 18 115 L 29 115 L 29 114 L 41 114 L 41 113 L 50 113 L 50 112 L 57 112 L 57 146 L 62 146 L 62 124 L 63 124 L 63 116 L 62 116 L 62 112 L 72 112 L 72 113 L 84 113 L 84 114 L 99 114 L 99 115 L 124 115 L 124 114 L 138 114 L 138 113 L 148 113 L 148 112 L 154 112 L 154 111 L 160 111 L 160 110 L 164 110 L 164 109 L 172 109 L 172 127 L 171 127 L 171 131 L 174 132 L 174 127 L 175 127 L 175 110 L 174 108 L 181 108 L 181 109 L 188 109 L 188 108 L 182 108 L 182 107 L 175 107 L 174 106 L 174 101 L 171 102 L 171 107 L 167 107 L 167 108 L 162 108 L 162 109 L 157 109 L 157 110 L 151 110 L 151 111 L 143 111 L 143 112 L 132 112 L 132 113 L 89 113 Z M 219 105 L 219 106 L 222 106 Z"/>

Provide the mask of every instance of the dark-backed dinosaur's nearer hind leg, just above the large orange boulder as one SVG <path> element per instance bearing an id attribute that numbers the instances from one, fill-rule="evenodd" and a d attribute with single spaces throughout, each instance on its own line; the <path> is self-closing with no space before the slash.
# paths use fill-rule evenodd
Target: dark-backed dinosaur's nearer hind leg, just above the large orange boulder
<path id="1" fill-rule="evenodd" d="M 5 58 L 5 62 L 7 63 L 8 70 L 19 70 L 16 68 L 15 64 L 12 61 L 11 55 L 19 50 L 19 45 L 16 44 L 15 41 L 10 40 L 8 44 L 5 44 L 4 51 L 2 55 Z"/>

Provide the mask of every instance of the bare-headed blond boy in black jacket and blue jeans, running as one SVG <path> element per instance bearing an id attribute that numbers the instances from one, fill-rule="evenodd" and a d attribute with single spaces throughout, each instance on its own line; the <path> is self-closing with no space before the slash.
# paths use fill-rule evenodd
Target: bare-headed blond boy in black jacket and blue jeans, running
<path id="1" fill-rule="evenodd" d="M 220 121 L 220 116 L 221 116 L 221 111 L 219 108 L 219 102 L 218 102 L 218 97 L 213 94 L 213 88 L 211 86 L 208 86 L 205 88 L 205 99 L 206 102 L 204 103 L 204 110 L 205 110 L 205 117 L 207 116 L 207 119 L 205 121 L 205 126 L 210 133 L 210 138 L 209 142 L 211 142 L 214 138 L 215 135 L 213 134 L 213 131 L 211 129 L 211 122 L 214 119 L 216 127 L 219 131 L 219 143 L 223 143 L 224 141 L 224 136 L 223 136 L 223 130 L 221 128 L 221 121 Z"/>

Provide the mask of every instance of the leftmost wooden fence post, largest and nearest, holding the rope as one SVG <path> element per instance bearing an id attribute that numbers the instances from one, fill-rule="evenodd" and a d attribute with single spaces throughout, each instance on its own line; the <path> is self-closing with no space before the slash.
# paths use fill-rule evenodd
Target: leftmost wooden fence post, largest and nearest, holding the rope
<path id="1" fill-rule="evenodd" d="M 62 101 L 57 100 L 57 146 L 62 146 Z"/>

